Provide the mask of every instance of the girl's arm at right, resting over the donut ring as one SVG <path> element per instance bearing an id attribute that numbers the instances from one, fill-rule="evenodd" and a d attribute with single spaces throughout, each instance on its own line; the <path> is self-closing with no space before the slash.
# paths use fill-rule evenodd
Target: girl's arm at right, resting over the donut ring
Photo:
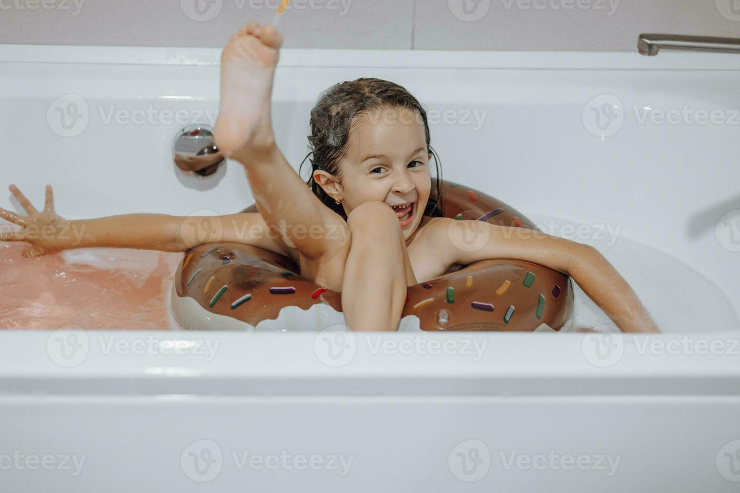
<path id="1" fill-rule="evenodd" d="M 452 262 L 519 259 L 568 274 L 622 332 L 659 333 L 635 292 L 596 248 L 524 228 L 478 220 L 440 222 Z M 446 226 L 446 227 L 444 227 Z"/>

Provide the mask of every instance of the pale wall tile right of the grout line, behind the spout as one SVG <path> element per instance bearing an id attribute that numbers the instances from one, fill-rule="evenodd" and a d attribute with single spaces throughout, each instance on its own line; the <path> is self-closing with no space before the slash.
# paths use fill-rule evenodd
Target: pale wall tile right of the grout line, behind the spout
<path id="1" fill-rule="evenodd" d="M 720 14 L 718 5 L 723 1 L 738 3 L 737 0 L 417 0 L 414 48 L 636 51 L 640 33 L 740 38 L 740 21 L 730 21 Z M 461 7 L 464 4 L 469 18 L 480 19 L 460 20 L 459 17 L 466 16 Z M 552 5 L 573 8 L 556 9 Z"/>

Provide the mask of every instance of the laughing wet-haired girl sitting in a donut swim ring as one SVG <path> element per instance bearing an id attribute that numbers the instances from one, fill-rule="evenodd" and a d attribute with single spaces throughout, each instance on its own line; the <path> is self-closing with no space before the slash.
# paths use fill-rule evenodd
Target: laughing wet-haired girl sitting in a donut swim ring
<path id="1" fill-rule="evenodd" d="M 292 257 L 301 276 L 340 291 L 351 330 L 397 330 L 407 286 L 442 276 L 454 263 L 521 259 L 568 273 L 622 331 L 658 332 L 625 279 L 594 248 L 442 217 L 431 197 L 434 154 L 425 110 L 397 84 L 359 79 L 320 98 L 311 115 L 309 191 L 277 149 L 270 120 L 282 42 L 275 27 L 252 21 L 221 57 L 214 135 L 221 151 L 244 166 L 260 213 L 218 217 L 210 235 L 196 237 L 203 231 L 198 225 L 214 218 L 129 214 L 66 221 L 54 212 L 50 186 L 44 211 L 11 186 L 29 216 L 0 209 L 0 217 L 21 226 L 0 240 L 30 242 L 33 254 L 93 246 L 186 251 L 244 242 Z M 442 199 L 439 178 L 436 196 Z M 294 234 L 297 226 L 312 234 Z M 474 248 L 464 241 L 467 231 L 477 231 Z"/>

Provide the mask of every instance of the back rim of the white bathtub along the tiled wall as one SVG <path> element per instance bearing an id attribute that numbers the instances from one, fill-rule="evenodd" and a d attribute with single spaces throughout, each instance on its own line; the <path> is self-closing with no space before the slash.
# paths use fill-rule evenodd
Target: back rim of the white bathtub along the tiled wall
<path id="1" fill-rule="evenodd" d="M 389 56 L 392 55 L 392 56 Z M 1 63 L 125 64 L 218 67 L 221 48 L 0 44 Z M 723 53 L 534 52 L 494 50 L 322 50 L 285 48 L 278 67 L 408 69 L 740 70 Z"/>

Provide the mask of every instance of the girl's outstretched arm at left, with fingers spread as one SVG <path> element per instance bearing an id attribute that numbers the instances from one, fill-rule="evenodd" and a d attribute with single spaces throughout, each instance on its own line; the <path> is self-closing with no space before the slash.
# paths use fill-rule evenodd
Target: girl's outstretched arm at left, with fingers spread
<path id="1" fill-rule="evenodd" d="M 10 191 L 28 216 L 0 208 L 0 217 L 21 226 L 0 233 L 0 241 L 30 243 L 30 256 L 90 247 L 178 252 L 213 242 L 245 243 L 286 255 L 276 240 L 277 234 L 267 234 L 262 217 L 256 213 L 212 217 L 125 214 L 69 221 L 55 213 L 51 186 L 46 189 L 43 211 L 37 211 L 16 186 L 10 186 Z"/>

